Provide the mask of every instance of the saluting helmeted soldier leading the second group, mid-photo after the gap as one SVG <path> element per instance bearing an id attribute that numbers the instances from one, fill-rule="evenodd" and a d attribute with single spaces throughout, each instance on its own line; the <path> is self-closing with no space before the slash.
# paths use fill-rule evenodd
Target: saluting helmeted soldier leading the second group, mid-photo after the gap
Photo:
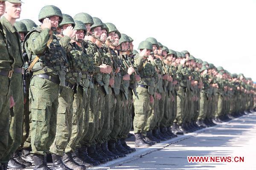
<path id="1" fill-rule="evenodd" d="M 138 98 L 133 97 L 135 147 L 149 147 L 150 144 L 143 141 L 142 132 L 148 116 L 151 114 L 150 105 L 154 103 L 154 84 L 157 74 L 151 64 L 151 61 L 153 61 L 153 57 L 150 56 L 150 51 L 153 50 L 152 44 L 148 41 L 142 41 L 139 44 L 139 49 L 140 54 L 137 54 L 134 58 L 134 67 L 138 69 L 141 77 L 137 87 Z"/>

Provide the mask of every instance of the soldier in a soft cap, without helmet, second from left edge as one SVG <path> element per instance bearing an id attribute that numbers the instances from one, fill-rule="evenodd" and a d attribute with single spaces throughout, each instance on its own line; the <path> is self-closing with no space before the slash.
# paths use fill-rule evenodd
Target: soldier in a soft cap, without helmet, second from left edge
<path id="1" fill-rule="evenodd" d="M 16 150 L 21 143 L 22 138 L 22 125 L 23 125 L 23 57 L 22 48 L 20 45 L 20 38 L 17 29 L 15 28 L 15 20 L 20 18 L 21 12 L 21 1 L 20 0 L 9 0 L 6 1 L 6 12 L 1 18 L 3 26 L 3 33 L 7 40 L 7 47 L 9 50 L 10 59 L 15 61 L 12 65 L 12 72 L 9 74 L 11 94 L 15 102 L 15 106 L 11 108 L 11 119 L 9 121 L 9 139 L 8 145 L 5 147 L 6 152 L 1 158 L 1 162 L 8 162 L 8 168 L 25 168 L 24 164 L 19 164 L 15 161 L 14 157 L 19 157 L 16 154 Z M 13 73 L 13 74 L 12 74 Z M 12 75 L 11 75 L 12 74 Z M 11 78 L 12 77 L 12 78 Z M 8 92 L 8 91 L 7 91 Z M 6 121 L 6 120 L 5 120 Z M 9 156 L 11 159 L 9 159 Z"/>

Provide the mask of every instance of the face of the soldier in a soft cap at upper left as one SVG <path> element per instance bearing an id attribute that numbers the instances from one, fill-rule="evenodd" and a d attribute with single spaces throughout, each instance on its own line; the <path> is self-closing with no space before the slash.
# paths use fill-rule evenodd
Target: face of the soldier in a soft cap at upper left
<path id="1" fill-rule="evenodd" d="M 9 3 L 6 1 L 6 15 L 11 19 L 20 18 L 21 3 Z"/>

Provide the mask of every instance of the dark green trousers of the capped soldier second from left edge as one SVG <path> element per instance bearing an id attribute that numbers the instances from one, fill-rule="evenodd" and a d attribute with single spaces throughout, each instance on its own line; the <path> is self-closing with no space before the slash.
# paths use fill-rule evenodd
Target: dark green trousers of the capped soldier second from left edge
<path id="1" fill-rule="evenodd" d="M 11 78 L 11 93 L 15 102 L 13 108 L 10 109 L 10 127 L 8 146 L 6 148 L 5 156 L 2 161 L 9 161 L 9 155 L 14 153 L 20 146 L 23 131 L 23 85 L 22 75 L 13 74 Z"/>

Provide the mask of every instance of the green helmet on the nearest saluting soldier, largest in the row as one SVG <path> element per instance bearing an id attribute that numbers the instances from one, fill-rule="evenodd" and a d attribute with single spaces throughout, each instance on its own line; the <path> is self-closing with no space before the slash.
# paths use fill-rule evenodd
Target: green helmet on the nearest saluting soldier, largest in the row
<path id="1" fill-rule="evenodd" d="M 44 18 L 49 18 L 52 16 L 60 17 L 59 24 L 61 23 L 63 17 L 62 17 L 60 8 L 58 8 L 57 6 L 53 6 L 53 5 L 44 6 L 38 14 L 38 21 L 42 22 L 42 20 L 44 20 Z"/>

